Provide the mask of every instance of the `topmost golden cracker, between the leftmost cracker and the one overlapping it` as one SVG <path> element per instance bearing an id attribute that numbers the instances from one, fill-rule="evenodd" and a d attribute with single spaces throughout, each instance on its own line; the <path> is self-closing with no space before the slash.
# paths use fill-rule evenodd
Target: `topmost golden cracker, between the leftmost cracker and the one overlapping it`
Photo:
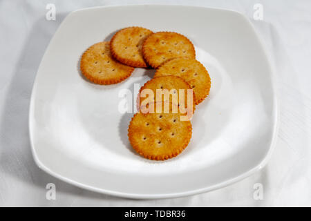
<path id="1" fill-rule="evenodd" d="M 111 54 L 122 64 L 146 68 L 142 57 L 142 42 L 153 32 L 147 28 L 129 27 L 119 30 L 110 41 Z"/>

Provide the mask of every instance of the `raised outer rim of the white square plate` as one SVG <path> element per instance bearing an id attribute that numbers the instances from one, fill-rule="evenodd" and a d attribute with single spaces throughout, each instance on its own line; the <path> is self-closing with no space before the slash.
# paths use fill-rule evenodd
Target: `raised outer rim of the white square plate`
<path id="1" fill-rule="evenodd" d="M 274 118 L 274 126 L 273 126 L 272 138 L 271 138 L 269 150 L 267 151 L 265 157 L 263 157 L 261 162 L 259 162 L 256 166 L 249 169 L 245 173 L 242 173 L 241 175 L 237 175 L 236 177 L 229 178 L 228 180 L 225 180 L 224 182 L 220 182 L 218 184 L 214 184 L 212 186 L 207 186 L 207 187 L 201 188 L 201 189 L 194 189 L 191 191 L 183 191 L 183 192 L 179 192 L 179 193 L 142 194 L 142 193 L 126 193 L 126 192 L 122 192 L 122 191 L 111 191 L 109 189 L 101 189 L 101 188 L 91 186 L 88 184 L 83 184 L 81 182 L 77 182 L 77 181 L 72 180 L 72 179 L 65 177 L 63 175 L 59 175 L 57 172 L 51 171 L 47 166 L 44 165 L 44 163 L 42 163 L 39 160 L 39 157 L 37 156 L 37 153 L 35 151 L 35 144 L 33 143 L 33 140 L 32 140 L 33 135 L 32 135 L 32 128 L 31 128 L 31 122 L 32 122 L 31 116 L 33 113 L 33 106 L 34 106 L 34 100 L 35 100 L 35 86 L 36 86 L 36 84 L 38 84 L 37 83 L 38 70 L 41 66 L 41 61 L 44 59 L 44 57 L 46 56 L 46 52 L 50 48 L 50 42 L 53 41 L 55 35 L 57 34 L 57 32 L 59 32 L 59 29 L 64 24 L 64 21 L 66 21 L 66 19 L 68 19 L 68 17 L 75 14 L 76 12 L 80 12 L 80 11 L 84 11 L 84 10 L 93 10 L 93 9 L 97 9 L 97 8 L 118 8 L 118 7 L 136 7 L 136 6 L 160 6 L 160 7 L 167 7 L 167 6 L 171 7 L 171 6 L 173 6 L 176 8 L 178 8 L 178 7 L 180 7 L 180 8 L 195 8 L 195 9 L 205 8 L 205 9 L 209 9 L 209 10 L 222 10 L 222 11 L 227 11 L 227 12 L 234 12 L 234 13 L 236 13 L 236 15 L 243 17 L 243 19 L 245 21 L 247 21 L 249 26 L 256 33 L 256 39 L 258 40 L 261 48 L 263 49 L 263 53 L 267 59 L 267 66 L 271 72 L 271 86 L 272 86 L 272 93 L 273 93 L 273 96 L 272 96 L 273 113 L 272 113 L 272 115 Z M 220 189 L 220 188 L 223 188 L 225 186 L 228 186 L 229 184 L 234 184 L 234 183 L 241 181 L 241 180 L 245 179 L 246 177 L 249 177 L 250 175 L 260 171 L 261 169 L 263 169 L 264 166 L 267 165 L 267 162 L 270 160 L 272 153 L 274 151 L 274 148 L 276 146 L 276 138 L 277 138 L 278 131 L 279 131 L 279 101 L 278 101 L 277 94 L 276 94 L 276 71 L 275 71 L 274 65 L 272 64 L 272 61 L 271 61 L 272 59 L 271 59 L 270 55 L 267 53 L 267 48 L 264 44 L 264 41 L 263 41 L 261 35 L 258 35 L 258 32 L 256 31 L 256 28 L 254 28 L 253 23 L 251 21 L 249 21 L 249 19 L 245 15 L 243 15 L 241 12 L 238 12 L 236 10 L 231 10 L 231 9 L 224 9 L 224 8 L 213 8 L 213 7 L 204 7 L 204 6 L 188 6 L 188 5 L 174 5 L 174 4 L 131 4 L 131 5 L 127 5 L 127 6 L 126 5 L 115 5 L 115 6 L 95 6 L 95 7 L 89 7 L 89 8 L 81 8 L 81 9 L 74 10 L 73 12 L 70 12 L 63 19 L 62 23 L 60 23 L 60 25 L 57 28 L 56 32 L 54 33 L 53 37 L 50 39 L 50 42 L 49 42 L 48 46 L 46 47 L 44 55 L 41 58 L 41 61 L 40 61 L 40 64 L 39 64 L 39 67 L 37 69 L 37 73 L 35 76 L 35 80 L 32 84 L 30 106 L 29 106 L 29 111 L 28 111 L 28 131 L 29 131 L 29 139 L 30 139 L 32 157 L 34 158 L 37 166 L 42 171 L 48 173 L 49 175 L 52 175 L 53 177 L 57 177 L 57 179 L 59 179 L 59 180 L 62 180 L 62 181 L 67 182 L 69 184 L 73 184 L 74 186 L 78 186 L 79 188 L 86 189 L 88 191 L 95 191 L 97 193 L 114 195 L 114 196 L 121 197 L 121 198 L 132 198 L 132 199 L 180 198 L 180 197 L 185 197 L 185 196 L 189 196 L 189 195 L 195 195 L 195 194 L 199 194 L 199 193 L 206 193 L 209 191 L 214 191 L 216 189 Z"/>

